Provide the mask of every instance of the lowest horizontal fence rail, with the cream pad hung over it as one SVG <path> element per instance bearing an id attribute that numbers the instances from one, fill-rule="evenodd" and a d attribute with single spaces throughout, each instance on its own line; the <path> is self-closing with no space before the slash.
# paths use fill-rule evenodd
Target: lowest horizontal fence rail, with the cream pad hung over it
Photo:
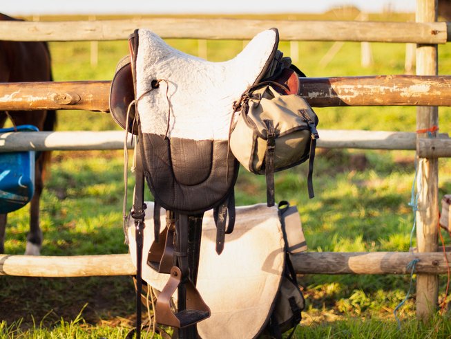
<path id="1" fill-rule="evenodd" d="M 446 253 L 451 262 L 451 253 Z M 408 265 L 418 259 L 415 273 L 445 274 L 443 253 L 410 252 L 305 252 L 291 256 L 298 274 L 410 274 Z M 72 257 L 35 257 L 0 255 L 0 275 L 21 277 L 89 277 L 134 275 L 131 256 L 80 255 Z"/>

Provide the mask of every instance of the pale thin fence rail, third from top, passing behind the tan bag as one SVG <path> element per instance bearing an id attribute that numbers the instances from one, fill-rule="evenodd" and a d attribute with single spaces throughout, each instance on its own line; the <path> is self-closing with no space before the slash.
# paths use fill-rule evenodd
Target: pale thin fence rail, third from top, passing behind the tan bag
<path id="1" fill-rule="evenodd" d="M 318 147 L 414 150 L 414 132 L 319 129 Z M 440 134 L 447 137 L 447 135 Z M 123 149 L 124 131 L 41 131 L 0 134 L 0 152 Z M 128 134 L 128 147 L 133 147 Z"/>

